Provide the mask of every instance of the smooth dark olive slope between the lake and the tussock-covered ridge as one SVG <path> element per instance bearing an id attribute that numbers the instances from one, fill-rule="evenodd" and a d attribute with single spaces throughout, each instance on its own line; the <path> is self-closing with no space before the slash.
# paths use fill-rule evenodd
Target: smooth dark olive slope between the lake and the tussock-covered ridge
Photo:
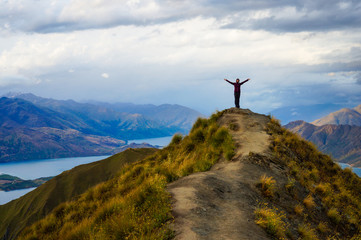
<path id="1" fill-rule="evenodd" d="M 0 237 L 11 239 L 25 226 L 43 218 L 64 201 L 112 177 L 124 164 L 139 161 L 156 149 L 129 149 L 102 161 L 75 167 L 25 196 L 0 206 Z"/>

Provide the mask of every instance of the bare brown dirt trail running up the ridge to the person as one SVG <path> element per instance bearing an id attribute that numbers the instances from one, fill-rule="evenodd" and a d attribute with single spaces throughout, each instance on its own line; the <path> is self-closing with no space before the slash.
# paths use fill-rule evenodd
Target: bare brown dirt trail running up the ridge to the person
<path id="1" fill-rule="evenodd" d="M 231 108 L 219 123 L 231 129 L 236 156 L 210 171 L 184 177 L 169 185 L 173 197 L 175 239 L 269 239 L 254 223 L 259 194 L 256 183 L 262 165 L 249 152 L 267 154 L 269 118 L 250 110 Z"/>

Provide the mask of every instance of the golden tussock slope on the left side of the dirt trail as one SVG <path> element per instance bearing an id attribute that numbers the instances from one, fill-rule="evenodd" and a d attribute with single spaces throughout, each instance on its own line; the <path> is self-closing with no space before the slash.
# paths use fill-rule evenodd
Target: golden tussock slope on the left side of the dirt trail
<path id="1" fill-rule="evenodd" d="M 234 144 L 218 115 L 199 119 L 190 135 L 174 136 L 156 154 L 129 165 L 119 175 L 90 188 L 75 201 L 58 206 L 27 228 L 20 239 L 168 239 L 172 237 L 170 196 L 166 184 L 206 171 Z"/>

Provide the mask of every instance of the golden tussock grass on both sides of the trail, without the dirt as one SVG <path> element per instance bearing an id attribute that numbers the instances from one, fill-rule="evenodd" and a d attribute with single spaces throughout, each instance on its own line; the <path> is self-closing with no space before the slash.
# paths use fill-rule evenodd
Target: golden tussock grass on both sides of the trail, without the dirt
<path id="1" fill-rule="evenodd" d="M 189 136 L 175 136 L 167 148 L 59 205 L 20 239 L 172 238 L 166 184 L 234 154 L 228 131 L 216 120 L 198 120 Z M 249 155 L 254 164 L 264 164 L 265 173 L 278 174 L 260 179 L 263 201 L 254 212 L 256 223 L 278 239 L 359 239 L 360 178 L 274 120 L 268 133 L 271 154 Z"/>

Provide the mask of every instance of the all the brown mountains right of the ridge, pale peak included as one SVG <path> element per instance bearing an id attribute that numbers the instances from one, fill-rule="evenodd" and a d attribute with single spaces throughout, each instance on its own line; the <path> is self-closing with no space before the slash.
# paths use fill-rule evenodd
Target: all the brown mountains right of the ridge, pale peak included
<path id="1" fill-rule="evenodd" d="M 285 127 L 336 160 L 361 166 L 361 105 L 343 108 L 312 123 L 294 121 Z"/>

